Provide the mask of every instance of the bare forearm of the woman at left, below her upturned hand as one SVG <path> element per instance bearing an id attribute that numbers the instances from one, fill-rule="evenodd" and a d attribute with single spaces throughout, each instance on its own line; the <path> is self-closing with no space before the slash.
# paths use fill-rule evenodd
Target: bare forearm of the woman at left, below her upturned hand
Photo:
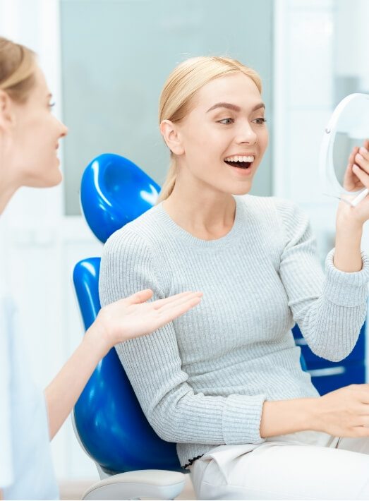
<path id="1" fill-rule="evenodd" d="M 44 390 L 50 440 L 71 413 L 90 375 L 105 354 L 106 347 L 99 342 L 93 330 L 88 330 L 71 358 Z"/>

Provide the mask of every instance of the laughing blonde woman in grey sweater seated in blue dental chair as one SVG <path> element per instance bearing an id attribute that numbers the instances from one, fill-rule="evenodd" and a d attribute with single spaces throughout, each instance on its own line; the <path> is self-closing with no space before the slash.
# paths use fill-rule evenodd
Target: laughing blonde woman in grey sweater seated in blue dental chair
<path id="1" fill-rule="evenodd" d="M 186 316 L 116 346 L 147 419 L 177 443 L 199 499 L 369 499 L 369 385 L 320 397 L 291 334 L 298 322 L 331 361 L 353 349 L 369 198 L 339 203 L 324 275 L 306 215 L 248 195 L 268 142 L 255 71 L 184 61 L 159 123 L 171 155 L 159 203 L 111 236 L 100 269 L 102 305 L 146 287 L 156 299 L 204 294 Z M 369 188 L 368 149 L 348 171 Z"/>

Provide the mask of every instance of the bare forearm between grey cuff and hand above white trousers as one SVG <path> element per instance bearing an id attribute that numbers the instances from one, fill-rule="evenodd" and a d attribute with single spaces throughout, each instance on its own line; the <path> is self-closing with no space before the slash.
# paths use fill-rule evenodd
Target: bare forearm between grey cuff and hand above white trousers
<path id="1" fill-rule="evenodd" d="M 314 430 L 318 398 L 265 401 L 260 421 L 260 437 Z"/>

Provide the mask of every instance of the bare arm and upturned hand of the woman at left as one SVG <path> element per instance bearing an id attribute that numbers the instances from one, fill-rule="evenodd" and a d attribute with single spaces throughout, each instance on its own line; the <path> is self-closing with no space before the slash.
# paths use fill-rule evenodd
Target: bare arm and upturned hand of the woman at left
<path id="1" fill-rule="evenodd" d="M 77 402 L 97 363 L 114 344 L 147 334 L 185 313 L 200 302 L 200 293 L 183 293 L 164 301 L 145 303 L 152 291 L 145 290 L 102 308 L 83 341 L 44 394 L 52 439 Z"/>

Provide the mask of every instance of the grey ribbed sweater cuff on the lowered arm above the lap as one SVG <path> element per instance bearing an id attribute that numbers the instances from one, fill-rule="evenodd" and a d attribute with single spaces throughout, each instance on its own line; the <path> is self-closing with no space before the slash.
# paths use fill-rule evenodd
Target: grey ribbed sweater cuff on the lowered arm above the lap
<path id="1" fill-rule="evenodd" d="M 231 394 L 223 411 L 223 436 L 226 445 L 260 444 L 260 421 L 265 395 L 253 397 Z"/>

